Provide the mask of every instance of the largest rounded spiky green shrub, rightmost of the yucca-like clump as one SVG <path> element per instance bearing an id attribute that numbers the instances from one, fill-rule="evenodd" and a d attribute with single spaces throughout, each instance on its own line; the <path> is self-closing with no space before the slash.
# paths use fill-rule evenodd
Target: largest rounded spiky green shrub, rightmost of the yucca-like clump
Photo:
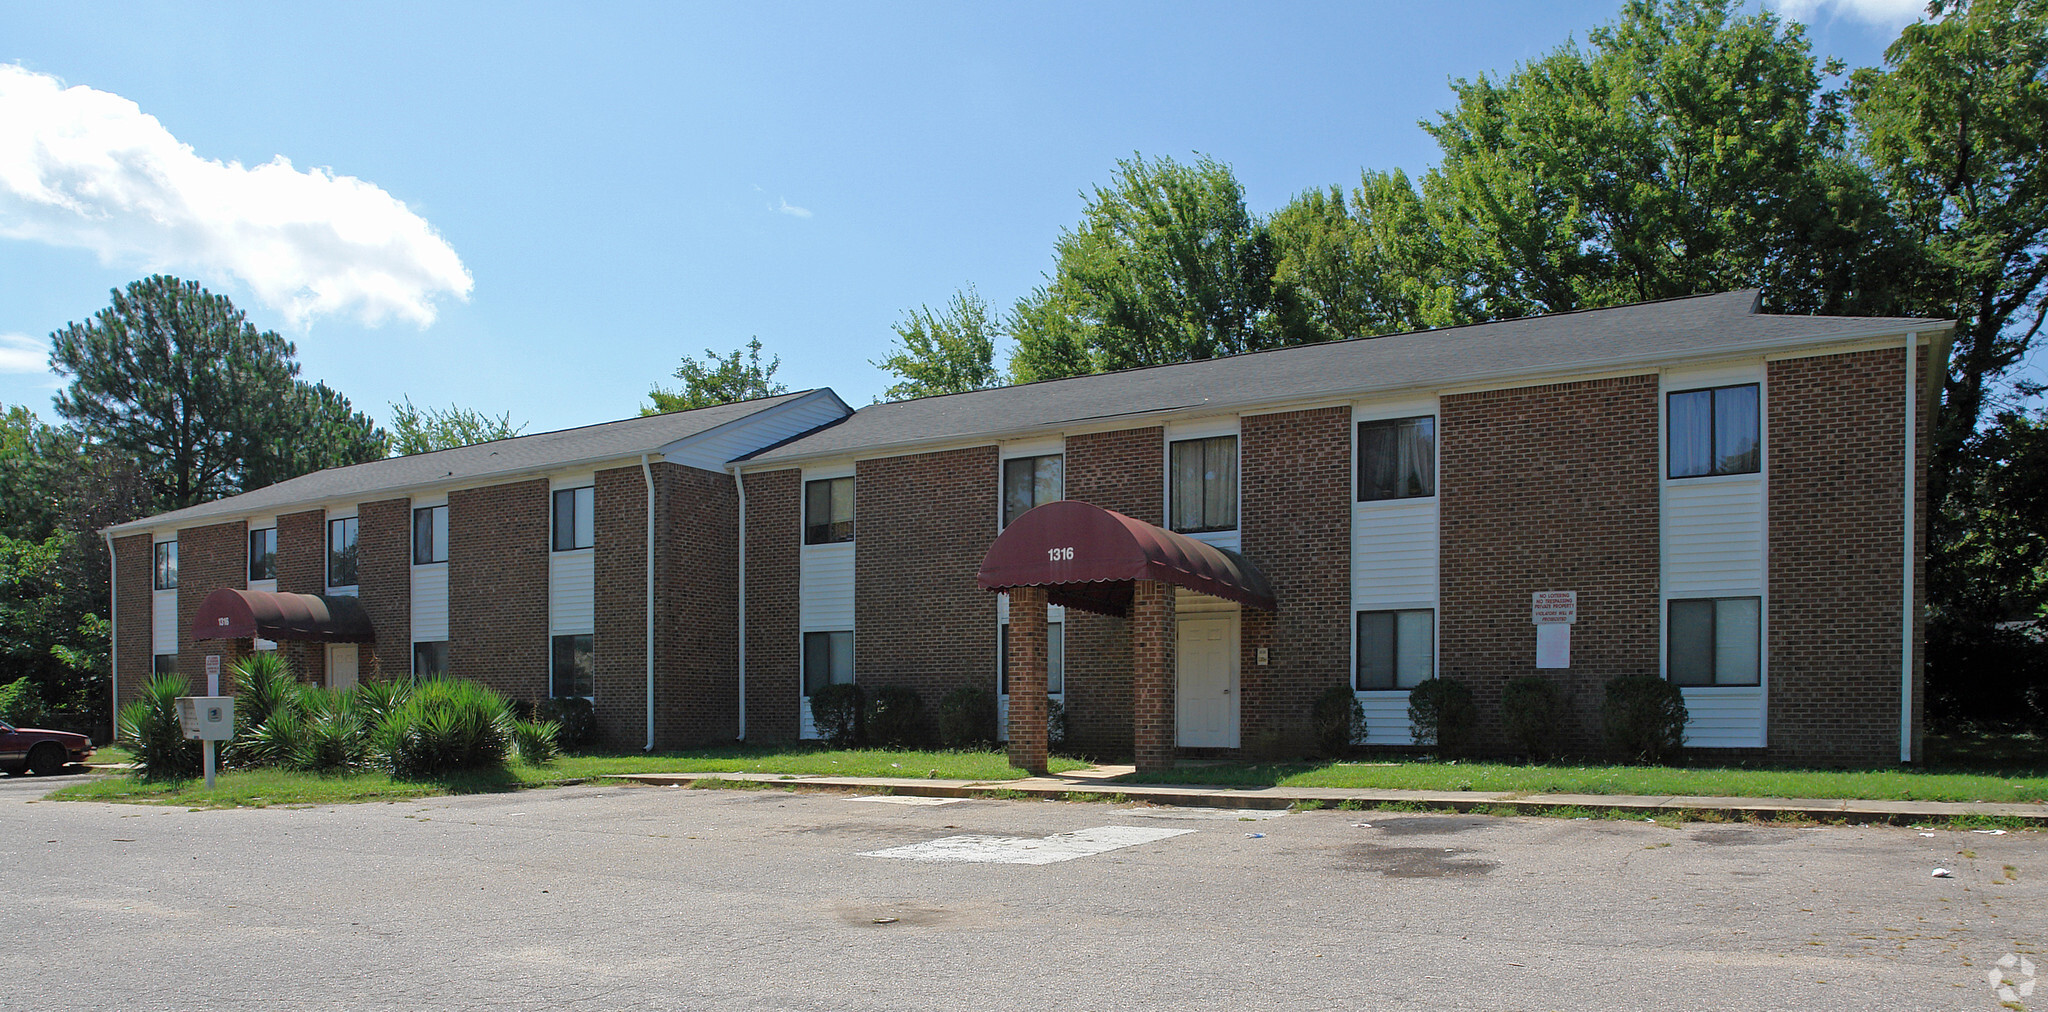
<path id="1" fill-rule="evenodd" d="M 391 776 L 424 781 L 504 766 L 512 717 L 504 697 L 475 682 L 428 678 L 371 733 Z"/>

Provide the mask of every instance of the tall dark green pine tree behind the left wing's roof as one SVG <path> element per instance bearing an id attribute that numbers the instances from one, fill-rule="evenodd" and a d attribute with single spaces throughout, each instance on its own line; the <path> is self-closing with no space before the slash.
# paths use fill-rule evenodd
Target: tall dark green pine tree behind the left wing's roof
<path id="1" fill-rule="evenodd" d="M 178 508 L 385 455 L 383 430 L 297 381 L 293 354 L 225 295 L 158 275 L 51 334 L 49 365 L 70 379 L 57 414 L 139 461 L 160 504 Z"/>

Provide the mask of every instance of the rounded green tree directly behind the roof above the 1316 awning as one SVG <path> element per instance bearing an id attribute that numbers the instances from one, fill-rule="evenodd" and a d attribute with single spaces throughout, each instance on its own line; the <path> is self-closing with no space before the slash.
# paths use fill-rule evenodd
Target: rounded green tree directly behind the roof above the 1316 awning
<path id="1" fill-rule="evenodd" d="M 1229 166 L 1133 156 L 1018 305 L 1018 381 L 1214 359 L 1294 340 L 1276 252 Z M 1044 344 L 1044 346 L 1040 346 Z"/>

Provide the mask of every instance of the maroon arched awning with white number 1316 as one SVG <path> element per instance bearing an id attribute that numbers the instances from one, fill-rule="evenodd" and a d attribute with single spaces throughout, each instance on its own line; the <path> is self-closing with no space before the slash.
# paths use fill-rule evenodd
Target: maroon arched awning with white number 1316
<path id="1" fill-rule="evenodd" d="M 1018 516 L 975 578 L 983 590 L 1042 586 L 1047 602 L 1098 615 L 1128 615 L 1133 580 L 1274 610 L 1272 584 L 1243 555 L 1077 500 Z"/>

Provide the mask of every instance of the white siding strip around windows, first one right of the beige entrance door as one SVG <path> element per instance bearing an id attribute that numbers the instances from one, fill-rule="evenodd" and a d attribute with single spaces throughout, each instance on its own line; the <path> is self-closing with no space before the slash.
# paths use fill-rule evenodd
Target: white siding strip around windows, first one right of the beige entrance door
<path id="1" fill-rule="evenodd" d="M 1358 424 L 1403 418 L 1436 418 L 1436 397 L 1374 404 L 1352 412 L 1352 653 L 1358 651 L 1358 613 L 1366 610 L 1430 610 L 1432 633 L 1442 625 L 1438 602 L 1438 498 L 1413 496 L 1391 500 L 1358 500 Z M 1434 447 L 1444 434 L 1432 426 Z M 1440 481 L 1432 477 L 1432 490 Z M 1432 645 L 1432 656 L 1436 653 Z M 1352 684 L 1358 678 L 1358 658 L 1352 658 Z M 1407 746 L 1413 733 L 1407 719 L 1407 688 L 1370 688 L 1358 692 L 1366 711 L 1366 744 Z"/>

